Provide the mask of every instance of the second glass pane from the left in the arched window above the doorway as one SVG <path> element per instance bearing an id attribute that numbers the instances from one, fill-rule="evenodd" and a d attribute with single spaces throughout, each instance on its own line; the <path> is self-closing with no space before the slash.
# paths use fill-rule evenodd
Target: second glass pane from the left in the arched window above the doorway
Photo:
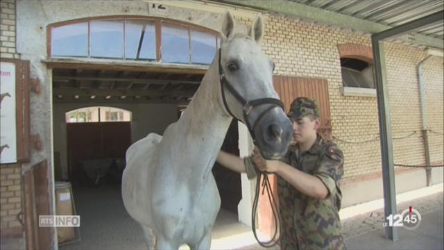
<path id="1" fill-rule="evenodd" d="M 123 58 L 123 21 L 90 22 L 91 56 Z"/>

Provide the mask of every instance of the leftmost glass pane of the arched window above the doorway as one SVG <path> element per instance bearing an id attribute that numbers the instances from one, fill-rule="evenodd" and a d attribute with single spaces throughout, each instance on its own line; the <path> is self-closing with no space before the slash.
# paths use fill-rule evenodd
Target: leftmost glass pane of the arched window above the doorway
<path id="1" fill-rule="evenodd" d="M 52 28 L 51 56 L 88 56 L 88 24 Z"/>

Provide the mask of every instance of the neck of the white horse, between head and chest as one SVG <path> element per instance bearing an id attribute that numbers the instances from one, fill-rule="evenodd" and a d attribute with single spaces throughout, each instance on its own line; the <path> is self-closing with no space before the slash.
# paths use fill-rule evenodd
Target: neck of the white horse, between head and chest
<path id="1" fill-rule="evenodd" d="M 193 166 L 205 168 L 196 171 L 206 172 L 212 167 L 232 120 L 222 108 L 218 62 L 216 56 L 177 124 L 185 137 L 182 139 L 194 147 L 189 150 L 198 153 L 192 158 L 199 163 Z"/>

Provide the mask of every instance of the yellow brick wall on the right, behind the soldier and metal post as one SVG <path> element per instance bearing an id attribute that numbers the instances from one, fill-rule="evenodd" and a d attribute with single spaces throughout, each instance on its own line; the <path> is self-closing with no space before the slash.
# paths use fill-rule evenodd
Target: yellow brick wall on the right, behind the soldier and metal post
<path id="1" fill-rule="evenodd" d="M 247 25 L 252 21 L 237 19 Z M 334 137 L 347 142 L 369 141 L 354 144 L 336 140 L 345 156 L 344 180 L 380 172 L 376 97 L 344 97 L 340 93 L 342 76 L 338 44 L 371 47 L 370 35 L 277 15 L 266 15 L 264 24 L 262 47 L 276 64 L 275 74 L 327 79 Z M 425 153 L 420 138 L 416 66 L 426 53 L 420 48 L 394 42 L 386 42 L 385 48 L 394 160 L 400 164 L 422 165 Z M 425 74 L 429 127 L 443 133 L 443 59 L 430 62 Z M 443 159 L 443 135 L 437 135 L 433 135 L 434 138 L 429 136 L 432 162 L 440 159 L 442 162 Z"/>

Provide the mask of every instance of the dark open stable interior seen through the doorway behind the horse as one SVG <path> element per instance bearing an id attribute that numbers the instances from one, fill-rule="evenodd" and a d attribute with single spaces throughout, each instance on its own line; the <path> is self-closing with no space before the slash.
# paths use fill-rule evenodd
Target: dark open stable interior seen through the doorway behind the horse
<path id="1" fill-rule="evenodd" d="M 80 238 L 60 249 L 146 249 L 142 230 L 126 212 L 121 178 L 126 149 L 148 133 L 162 135 L 198 88 L 203 70 L 186 73 L 126 69 L 53 69 L 55 181 L 72 185 L 80 215 Z M 237 122 L 223 149 L 239 155 Z M 238 222 L 241 176 L 220 165 L 212 169 L 221 196 L 214 237 L 249 231 Z M 119 239 L 124 246 L 116 246 Z"/>

